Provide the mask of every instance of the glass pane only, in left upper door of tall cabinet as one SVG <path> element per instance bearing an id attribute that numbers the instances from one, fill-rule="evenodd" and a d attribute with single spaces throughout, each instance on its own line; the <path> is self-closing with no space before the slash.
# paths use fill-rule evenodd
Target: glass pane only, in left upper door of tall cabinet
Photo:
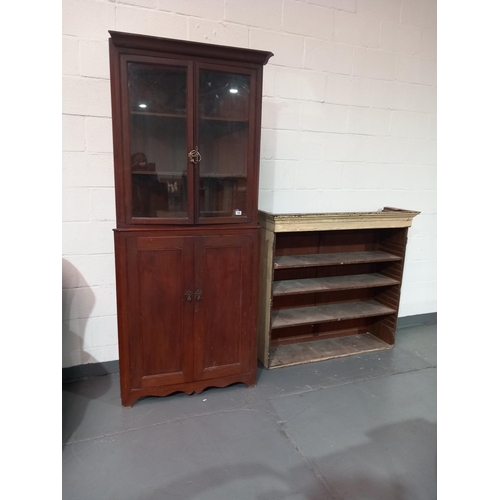
<path id="1" fill-rule="evenodd" d="M 129 63 L 133 217 L 187 217 L 186 68 Z"/>

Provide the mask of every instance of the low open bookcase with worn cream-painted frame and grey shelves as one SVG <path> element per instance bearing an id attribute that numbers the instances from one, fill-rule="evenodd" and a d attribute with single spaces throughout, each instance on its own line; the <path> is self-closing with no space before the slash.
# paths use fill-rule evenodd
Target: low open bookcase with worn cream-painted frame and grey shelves
<path id="1" fill-rule="evenodd" d="M 258 358 L 269 369 L 394 346 L 419 212 L 259 212 Z"/>

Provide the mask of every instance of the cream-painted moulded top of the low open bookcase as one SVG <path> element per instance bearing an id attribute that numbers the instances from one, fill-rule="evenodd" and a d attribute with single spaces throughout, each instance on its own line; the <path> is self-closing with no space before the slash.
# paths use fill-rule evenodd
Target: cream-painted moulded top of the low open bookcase
<path id="1" fill-rule="evenodd" d="M 259 211 L 259 224 L 275 233 L 410 227 L 420 212 L 384 207 L 377 212 L 273 214 Z"/>

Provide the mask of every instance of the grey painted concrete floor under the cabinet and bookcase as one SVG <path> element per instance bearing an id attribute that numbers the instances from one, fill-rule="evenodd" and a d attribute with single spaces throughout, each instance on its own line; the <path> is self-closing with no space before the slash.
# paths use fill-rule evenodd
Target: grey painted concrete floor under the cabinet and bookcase
<path id="1" fill-rule="evenodd" d="M 431 500 L 436 325 L 389 351 L 259 369 L 257 385 L 120 403 L 63 385 L 64 500 Z"/>

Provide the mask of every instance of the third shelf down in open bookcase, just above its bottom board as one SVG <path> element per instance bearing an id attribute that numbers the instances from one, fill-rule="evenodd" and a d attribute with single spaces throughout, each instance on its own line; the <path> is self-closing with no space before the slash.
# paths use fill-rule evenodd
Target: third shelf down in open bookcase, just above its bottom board
<path id="1" fill-rule="evenodd" d="M 347 319 L 368 318 L 394 314 L 395 309 L 386 307 L 375 300 L 343 302 L 311 307 L 280 309 L 271 313 L 271 328 L 328 323 Z"/>

